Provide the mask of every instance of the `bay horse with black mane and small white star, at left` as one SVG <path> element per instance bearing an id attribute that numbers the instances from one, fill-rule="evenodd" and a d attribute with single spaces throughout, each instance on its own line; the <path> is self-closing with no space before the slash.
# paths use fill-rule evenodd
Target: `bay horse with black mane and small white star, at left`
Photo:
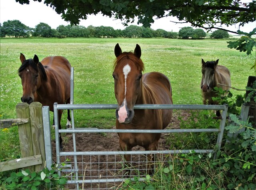
<path id="1" fill-rule="evenodd" d="M 20 53 L 22 65 L 18 69 L 21 78 L 23 95 L 22 102 L 28 104 L 40 102 L 42 106 L 49 106 L 53 112 L 53 104 L 70 103 L 70 69 L 71 65 L 65 57 L 46 57 L 41 62 L 37 55 L 33 59 L 26 59 Z M 62 110 L 58 110 L 59 129 Z M 70 111 L 68 110 L 67 126 L 70 125 Z M 62 138 L 60 137 L 62 146 Z"/>

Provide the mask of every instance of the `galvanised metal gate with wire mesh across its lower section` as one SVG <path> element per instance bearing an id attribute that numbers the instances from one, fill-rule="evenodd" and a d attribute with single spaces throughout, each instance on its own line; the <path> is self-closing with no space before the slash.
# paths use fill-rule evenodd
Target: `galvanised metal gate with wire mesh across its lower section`
<path id="1" fill-rule="evenodd" d="M 71 98 L 72 99 L 72 98 Z M 116 104 L 54 104 L 55 139 L 56 139 L 56 163 L 61 170 L 59 175 L 68 175 L 69 188 L 74 189 L 115 189 L 126 179 L 122 155 L 131 154 L 131 175 L 145 174 L 147 154 L 157 154 L 161 161 L 168 161 L 167 157 L 176 153 L 190 153 L 190 150 L 159 150 L 159 151 L 76 151 L 76 133 L 190 133 L 190 132 L 218 132 L 216 145 L 220 148 L 224 133 L 225 121 L 228 111 L 227 105 L 166 105 L 143 104 L 135 105 L 134 109 L 172 109 L 172 110 L 223 110 L 220 127 L 218 129 L 164 129 L 164 130 L 124 130 L 124 129 L 97 129 L 75 128 L 74 110 L 78 109 L 116 109 Z M 72 116 L 71 129 L 58 129 L 58 110 L 70 109 Z M 46 146 L 46 166 L 52 165 L 52 149 L 50 149 L 50 115 L 48 106 L 43 107 L 44 134 Z M 72 133 L 74 150 L 62 152 L 60 150 L 59 134 Z M 117 147 L 116 147 L 117 149 Z M 196 153 L 212 153 L 213 149 L 198 149 Z M 160 156 L 159 156 L 160 155 Z M 164 155 L 167 155 L 164 156 Z M 111 158 L 111 161 L 108 161 Z M 156 159 L 157 160 L 157 159 Z M 170 160 L 170 159 L 169 159 Z M 159 162 L 159 160 L 157 160 Z M 62 165 L 61 163 L 64 163 Z M 136 165 L 135 167 L 133 167 Z"/>

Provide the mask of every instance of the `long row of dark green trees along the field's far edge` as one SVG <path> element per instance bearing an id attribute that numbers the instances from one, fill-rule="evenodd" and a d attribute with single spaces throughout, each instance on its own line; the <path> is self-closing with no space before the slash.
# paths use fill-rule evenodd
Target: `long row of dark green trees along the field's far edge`
<path id="1" fill-rule="evenodd" d="M 152 29 L 150 27 L 130 25 L 125 29 L 114 29 L 110 26 L 92 25 L 88 27 L 79 25 L 59 25 L 56 29 L 52 29 L 50 25 L 40 22 L 35 28 L 30 28 L 19 20 L 8 20 L 0 23 L 0 37 L 126 37 L 126 38 L 181 38 L 181 39 L 202 39 L 206 37 L 206 32 L 203 29 L 193 29 L 192 27 L 183 27 L 179 32 L 165 31 L 164 29 Z M 216 30 L 211 33 L 212 38 L 228 38 L 229 34 L 226 31 Z"/>

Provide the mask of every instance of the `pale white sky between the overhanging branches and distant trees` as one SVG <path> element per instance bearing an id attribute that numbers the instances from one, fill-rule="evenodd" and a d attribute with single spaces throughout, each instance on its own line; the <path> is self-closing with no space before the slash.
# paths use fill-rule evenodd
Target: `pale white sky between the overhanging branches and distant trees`
<path id="1" fill-rule="evenodd" d="M 15 0 L 0 0 L 0 23 L 6 22 L 8 20 L 19 20 L 22 24 L 34 28 L 40 22 L 50 25 L 52 29 L 56 29 L 59 25 L 68 25 L 69 22 L 64 21 L 61 18 L 61 15 L 57 14 L 50 6 L 42 2 L 34 2 L 30 0 L 30 4 L 23 4 L 16 2 Z M 166 31 L 178 32 L 180 28 L 191 26 L 190 24 L 175 24 L 170 21 L 178 22 L 177 18 L 166 17 L 155 19 L 154 24 L 151 25 L 151 28 L 164 29 Z M 81 20 L 80 24 L 82 26 L 88 27 L 89 25 L 93 26 L 111 26 L 114 29 L 125 29 L 126 26 L 122 25 L 121 20 L 115 20 L 114 18 L 109 18 L 102 16 L 102 14 L 97 14 L 96 16 L 90 15 L 88 19 Z M 137 25 L 136 21 L 128 25 Z M 141 26 L 141 25 L 139 25 Z M 250 32 L 256 27 L 256 22 L 240 27 L 241 31 Z M 225 28 L 225 27 L 224 27 Z M 226 29 L 237 31 L 238 26 L 226 27 Z"/>

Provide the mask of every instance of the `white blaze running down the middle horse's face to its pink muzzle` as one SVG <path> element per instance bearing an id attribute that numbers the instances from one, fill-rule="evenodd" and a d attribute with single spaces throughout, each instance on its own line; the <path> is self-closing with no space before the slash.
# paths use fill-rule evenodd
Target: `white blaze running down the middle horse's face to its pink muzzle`
<path id="1" fill-rule="evenodd" d="M 129 72 L 131 71 L 130 65 L 125 65 L 123 68 L 123 73 L 124 73 L 124 101 L 122 103 L 122 106 L 118 110 L 118 121 L 120 123 L 124 123 L 125 119 L 127 118 L 127 110 L 126 110 L 126 79 L 128 77 Z"/>

